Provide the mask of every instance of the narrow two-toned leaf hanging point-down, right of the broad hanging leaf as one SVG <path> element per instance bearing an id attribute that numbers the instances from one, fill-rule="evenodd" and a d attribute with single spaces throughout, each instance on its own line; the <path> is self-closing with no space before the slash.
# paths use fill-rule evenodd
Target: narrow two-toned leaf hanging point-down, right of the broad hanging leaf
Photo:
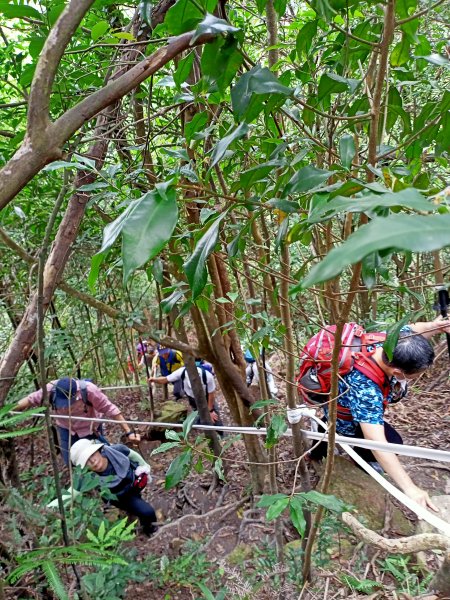
<path id="1" fill-rule="evenodd" d="M 203 230 L 203 235 L 195 245 L 193 253 L 183 265 L 194 300 L 200 295 L 206 285 L 208 278 L 206 260 L 217 244 L 220 224 L 226 215 L 227 211 L 219 215 L 217 219 L 207 223 L 206 228 Z"/>

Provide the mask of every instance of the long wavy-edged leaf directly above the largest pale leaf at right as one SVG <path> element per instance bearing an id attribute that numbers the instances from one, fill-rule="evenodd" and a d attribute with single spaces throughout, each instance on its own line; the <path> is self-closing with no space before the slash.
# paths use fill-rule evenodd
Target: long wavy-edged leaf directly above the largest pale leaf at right
<path id="1" fill-rule="evenodd" d="M 415 188 L 407 188 L 401 192 L 389 192 L 387 194 L 368 194 L 358 198 L 344 198 L 336 196 L 330 202 L 321 204 L 317 209 L 311 211 L 308 222 L 321 223 L 332 219 L 342 212 L 370 212 L 377 208 L 392 208 L 404 206 L 413 210 L 434 211 L 437 206 L 426 198 Z"/>

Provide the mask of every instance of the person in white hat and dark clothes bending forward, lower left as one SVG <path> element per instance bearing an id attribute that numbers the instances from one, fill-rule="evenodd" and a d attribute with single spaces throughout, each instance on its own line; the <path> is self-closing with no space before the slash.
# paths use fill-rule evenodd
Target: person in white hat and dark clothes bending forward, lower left
<path id="1" fill-rule="evenodd" d="M 142 499 L 142 490 L 151 483 L 150 465 L 140 454 L 123 444 L 112 446 L 96 440 L 78 440 L 70 449 L 74 466 L 87 467 L 100 477 L 100 485 L 116 496 L 111 504 L 137 517 L 142 532 L 151 535 L 156 531 L 154 508 Z M 76 498 L 81 492 L 70 488 L 63 495 L 64 503 Z M 48 504 L 57 507 L 57 500 Z"/>

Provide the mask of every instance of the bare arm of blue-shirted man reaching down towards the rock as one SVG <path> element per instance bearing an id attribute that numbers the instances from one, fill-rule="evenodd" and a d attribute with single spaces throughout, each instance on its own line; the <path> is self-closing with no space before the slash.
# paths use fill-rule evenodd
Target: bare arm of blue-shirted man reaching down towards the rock
<path id="1" fill-rule="evenodd" d="M 360 423 L 360 425 L 365 439 L 387 443 L 383 425 L 374 425 L 373 423 Z M 380 452 L 379 450 L 372 450 L 372 453 L 383 470 L 409 498 L 425 508 L 429 507 L 438 511 L 438 508 L 430 500 L 428 493 L 416 486 L 395 454 Z"/>

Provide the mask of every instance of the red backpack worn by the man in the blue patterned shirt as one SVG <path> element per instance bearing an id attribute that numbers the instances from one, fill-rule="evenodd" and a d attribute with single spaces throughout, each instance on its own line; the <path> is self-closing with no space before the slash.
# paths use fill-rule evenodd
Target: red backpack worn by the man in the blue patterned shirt
<path id="1" fill-rule="evenodd" d="M 331 358 L 334 348 L 336 325 L 328 325 L 316 333 L 300 354 L 300 370 L 295 378 L 300 397 L 307 404 L 325 404 L 329 401 L 331 389 Z M 372 358 L 375 348 L 368 346 L 384 342 L 385 333 L 366 333 L 357 323 L 346 323 L 342 330 L 342 347 L 339 351 L 339 376 L 357 369 L 374 381 L 381 389 L 384 405 L 390 392 L 389 379 Z M 351 421 L 350 409 L 338 401 L 338 418 Z"/>

